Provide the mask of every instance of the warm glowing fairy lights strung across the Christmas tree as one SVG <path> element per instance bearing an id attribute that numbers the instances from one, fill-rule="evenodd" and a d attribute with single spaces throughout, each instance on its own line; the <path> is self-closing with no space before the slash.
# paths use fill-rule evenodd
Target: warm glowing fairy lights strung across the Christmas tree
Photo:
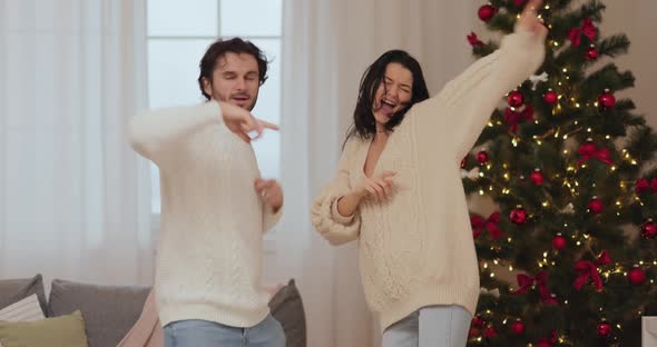
<path id="1" fill-rule="evenodd" d="M 549 10 L 550 9 L 550 4 L 545 4 L 545 9 Z M 481 10 L 481 9 L 480 9 Z M 518 18 L 520 16 L 518 14 Z M 539 18 L 541 18 L 541 16 L 538 16 Z M 480 18 L 481 18 L 481 13 L 480 13 Z M 548 24 L 549 29 L 552 29 L 551 24 Z M 549 40 L 548 42 L 549 46 L 553 47 L 555 50 L 559 49 L 560 47 L 565 46 L 565 43 L 559 42 L 558 40 Z M 597 51 L 592 51 L 592 46 L 591 49 L 587 52 L 588 53 L 595 53 L 595 58 L 597 58 Z M 567 67 L 561 68 L 560 70 L 562 73 L 560 73 L 557 77 L 552 77 L 552 82 L 555 83 L 553 89 L 550 88 L 548 89 L 548 91 L 543 95 L 543 100 L 546 102 L 548 102 L 549 105 L 552 105 L 551 108 L 551 116 L 552 117 L 566 117 L 566 113 L 568 112 L 569 109 L 582 109 L 582 108 L 594 108 L 596 110 L 599 109 L 604 109 L 605 107 L 608 107 L 609 102 L 615 102 L 614 96 L 612 93 L 610 93 L 609 90 L 605 90 L 605 92 L 602 95 L 600 95 L 598 97 L 598 100 L 581 100 L 579 99 L 576 95 L 573 90 L 568 90 L 567 88 L 569 87 L 568 82 L 570 81 L 570 76 L 569 76 L 569 69 Z M 569 97 L 567 97 L 569 96 Z M 520 111 L 519 108 L 511 106 L 510 109 L 512 111 Z M 540 120 L 539 119 L 535 119 L 533 122 L 536 125 L 540 125 Z M 559 139 L 559 140 L 568 140 L 569 138 L 571 138 L 573 135 L 578 133 L 578 132 L 582 132 L 586 131 L 586 133 L 591 133 L 594 132 L 594 130 L 590 127 L 582 127 L 579 125 L 578 120 L 573 120 L 572 122 L 572 128 L 573 130 L 571 130 L 570 132 L 565 132 L 565 130 L 561 128 L 563 126 L 560 126 L 559 128 L 556 129 L 550 129 L 548 130 L 546 133 L 543 135 L 535 135 L 531 137 L 531 140 L 537 145 L 537 146 L 542 146 L 543 142 L 549 141 L 550 138 L 553 139 Z M 488 127 L 490 128 L 494 128 L 494 127 L 503 127 L 504 122 L 502 120 L 491 120 L 488 123 Z M 517 148 L 519 146 L 519 143 L 522 141 L 522 139 L 520 137 L 518 137 L 514 132 L 510 132 L 511 133 L 511 145 Z M 611 140 L 611 136 L 606 135 L 604 136 L 605 140 Z M 592 140 L 589 138 L 587 139 L 587 141 L 589 143 L 592 143 Z M 484 151 L 486 149 L 482 149 L 482 151 Z M 575 202 L 575 198 L 579 197 L 581 195 L 580 191 L 585 191 L 585 189 L 588 189 L 589 187 L 584 187 L 584 184 L 581 184 L 578 180 L 578 172 L 579 170 L 586 170 L 588 168 L 587 161 L 584 160 L 582 162 L 578 162 L 575 163 L 577 161 L 577 158 L 573 157 L 573 153 L 578 153 L 578 151 L 573 151 L 572 149 L 568 149 L 565 148 L 561 150 L 562 155 L 565 156 L 565 159 L 567 160 L 567 166 L 566 166 L 566 174 L 567 175 L 560 175 L 560 174 L 555 174 L 552 175 L 550 181 L 551 182 L 560 182 L 562 185 L 562 187 L 567 188 L 567 190 L 570 192 L 571 197 L 573 198 L 571 201 L 567 201 L 568 204 L 566 205 L 566 207 L 563 207 L 562 209 L 558 209 L 558 206 L 555 206 L 555 202 L 551 201 L 549 198 L 546 197 L 546 199 L 540 202 L 540 207 L 543 209 L 553 209 L 557 210 L 558 212 L 561 214 L 573 214 L 575 209 L 572 207 L 572 204 Z M 639 165 L 639 160 L 637 158 L 635 158 L 630 151 L 628 149 L 621 149 L 620 150 L 620 156 L 619 159 L 622 162 L 622 165 L 631 165 L 631 166 L 637 166 Z M 608 166 L 608 171 L 609 174 L 614 174 L 619 165 L 621 163 L 610 163 Z M 481 161 L 480 160 L 480 170 L 477 174 L 477 177 L 473 177 L 471 179 L 473 180 L 478 180 L 478 184 L 480 186 L 480 188 L 478 189 L 478 194 L 480 196 L 484 196 L 484 195 L 502 195 L 502 196 L 510 196 L 513 199 L 516 199 L 517 201 L 523 201 L 524 199 L 522 197 L 519 197 L 514 194 L 513 189 L 510 187 L 510 185 L 512 184 L 512 178 L 513 175 L 511 172 L 511 166 L 508 162 L 502 162 L 501 163 L 501 169 L 500 172 L 496 171 L 497 167 L 496 163 L 493 163 L 490 160 L 486 160 L 486 161 Z M 538 170 L 538 169 L 537 169 Z M 498 179 L 501 178 L 501 179 Z M 521 177 L 521 179 L 523 179 L 523 177 Z M 484 184 L 486 182 L 486 184 Z M 617 217 L 622 217 L 622 210 L 625 206 L 629 206 L 631 204 L 638 204 L 639 206 L 644 206 L 644 202 L 641 201 L 641 195 L 639 192 L 636 191 L 635 189 L 636 187 L 636 182 L 635 181 L 627 181 L 627 180 L 619 180 L 619 188 L 620 191 L 622 194 L 622 197 L 618 197 L 616 199 L 612 199 L 611 204 L 607 204 L 610 205 L 612 208 L 616 208 L 616 216 Z M 592 182 L 590 188 L 596 189 L 596 184 Z M 630 192 L 631 191 L 634 192 Z M 594 199 L 597 199 L 594 196 Z M 527 202 L 527 201 L 523 201 Z M 522 204 L 521 206 L 530 206 L 531 204 Z M 608 207 L 608 206 L 606 206 Z M 587 212 L 590 211 L 590 208 L 587 209 Z M 540 210 L 537 211 L 529 211 L 528 212 L 528 219 L 531 219 L 535 217 L 535 214 L 540 214 Z M 646 222 L 653 222 L 651 219 L 647 219 Z M 559 232 L 557 236 L 560 238 L 563 238 L 563 240 L 566 240 L 566 238 L 570 239 L 570 244 L 575 245 L 577 248 L 581 249 L 581 254 L 589 254 L 591 255 L 591 257 L 594 259 L 598 258 L 598 254 L 596 254 L 594 251 L 595 248 L 595 244 L 596 244 L 596 237 L 588 234 L 588 232 L 581 232 L 578 230 L 569 230 L 571 229 L 571 227 L 568 225 L 568 222 L 563 224 L 563 232 Z M 571 232 L 568 232 L 571 231 Z M 570 235 L 568 235 L 570 234 Z M 516 240 L 512 236 L 506 237 L 503 239 L 503 241 L 512 245 Z M 490 250 L 491 251 L 499 251 L 501 249 L 501 247 L 499 245 L 494 245 L 492 244 L 490 246 Z M 539 251 L 538 252 L 540 255 L 540 257 L 538 259 L 536 259 L 536 264 L 538 266 L 539 269 L 549 269 L 550 267 L 555 267 L 559 265 L 559 250 L 555 249 L 555 247 L 547 247 L 543 251 Z M 492 265 L 491 265 L 492 262 Z M 494 258 L 492 260 L 482 260 L 481 261 L 481 268 L 483 269 L 483 272 L 487 274 L 487 276 L 489 276 L 490 278 L 494 278 L 496 276 L 496 271 L 500 271 L 500 270 L 508 270 L 509 272 L 514 272 L 518 271 L 517 268 L 513 267 L 513 265 L 510 261 L 507 261 L 504 259 L 501 258 Z M 601 276 L 605 281 L 609 281 L 609 279 L 611 277 L 618 276 L 618 277 L 625 277 L 628 282 L 630 285 L 643 285 L 643 284 L 649 284 L 650 286 L 653 286 L 655 284 L 655 279 L 654 278 L 646 278 L 646 272 L 643 269 L 646 269 L 650 267 L 651 269 L 657 269 L 657 259 L 644 259 L 644 260 L 638 260 L 636 261 L 636 264 L 631 264 L 631 265 L 627 265 L 627 264 L 622 264 L 622 262 L 618 262 L 618 261 L 614 261 L 612 264 L 609 265 L 602 265 L 602 266 L 598 266 L 596 268 L 596 271 L 599 274 L 599 276 Z M 630 278 L 634 274 L 633 271 L 636 269 L 640 269 L 641 274 L 643 274 L 643 278 L 644 280 L 639 280 L 636 282 L 633 282 L 633 278 Z M 653 274 L 657 272 L 657 271 L 651 271 Z M 640 277 L 638 278 L 640 279 Z M 532 285 L 532 288 L 536 287 L 536 284 Z M 552 299 L 556 299 L 555 295 L 551 295 Z M 560 304 L 568 306 L 569 305 L 569 300 L 568 298 L 562 298 Z M 622 330 L 622 325 L 619 323 L 609 323 L 606 320 L 605 318 L 605 311 L 606 308 L 605 307 L 599 307 L 599 315 L 600 315 L 600 321 L 597 326 L 598 329 L 598 335 L 605 336 L 605 337 L 609 337 L 614 340 L 617 340 L 618 337 L 614 336 L 611 334 L 611 328 L 615 327 L 618 330 Z M 493 313 L 488 309 L 484 311 L 486 315 L 488 316 L 492 316 Z M 636 311 L 637 316 L 641 316 L 643 311 L 639 309 Z M 507 326 L 508 323 L 510 323 L 511 326 L 511 330 L 513 331 L 518 331 L 518 330 L 524 330 L 523 326 L 518 326 L 518 324 L 521 324 L 521 317 L 513 317 L 512 315 L 504 315 L 504 317 L 501 319 L 501 323 L 503 326 Z M 489 328 L 491 328 L 492 325 L 489 325 Z M 493 331 L 494 333 L 494 331 Z M 556 335 L 552 337 L 553 338 L 553 343 L 560 343 L 560 344 L 569 344 L 572 343 L 569 340 L 568 336 L 566 334 L 559 334 L 558 331 L 555 333 Z M 471 338 L 471 340 L 474 341 L 479 341 L 481 343 L 483 340 L 484 337 L 488 337 L 486 334 L 484 336 L 482 335 L 478 335 L 474 336 L 473 338 Z M 540 345 L 540 344 L 539 344 Z M 536 345 L 536 346 L 539 346 Z M 532 343 L 528 343 L 527 346 L 535 346 Z"/>

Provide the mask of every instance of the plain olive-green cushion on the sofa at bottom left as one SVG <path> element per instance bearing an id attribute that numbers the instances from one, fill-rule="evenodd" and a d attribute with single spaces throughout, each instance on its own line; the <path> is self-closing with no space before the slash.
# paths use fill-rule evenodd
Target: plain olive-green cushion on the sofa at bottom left
<path id="1" fill-rule="evenodd" d="M 0 321 L 0 341 L 4 347 L 88 347 L 79 310 L 35 321 Z"/>

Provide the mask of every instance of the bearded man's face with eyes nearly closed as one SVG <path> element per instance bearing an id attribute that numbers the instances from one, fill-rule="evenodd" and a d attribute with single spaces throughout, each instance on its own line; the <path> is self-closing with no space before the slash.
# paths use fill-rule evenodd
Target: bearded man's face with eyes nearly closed
<path id="1" fill-rule="evenodd" d="M 257 61 L 252 54 L 227 52 L 217 58 L 212 81 L 204 79 L 203 89 L 214 100 L 251 111 L 259 89 Z"/>

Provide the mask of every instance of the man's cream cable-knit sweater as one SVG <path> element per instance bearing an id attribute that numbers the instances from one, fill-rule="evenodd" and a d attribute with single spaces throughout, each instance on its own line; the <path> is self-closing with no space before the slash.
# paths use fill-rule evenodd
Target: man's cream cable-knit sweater
<path id="1" fill-rule="evenodd" d="M 261 287 L 263 232 L 281 210 L 273 214 L 255 191 L 251 145 L 223 123 L 216 101 L 139 115 L 130 139 L 160 172 L 155 293 L 161 325 L 262 321 L 269 313 Z"/>

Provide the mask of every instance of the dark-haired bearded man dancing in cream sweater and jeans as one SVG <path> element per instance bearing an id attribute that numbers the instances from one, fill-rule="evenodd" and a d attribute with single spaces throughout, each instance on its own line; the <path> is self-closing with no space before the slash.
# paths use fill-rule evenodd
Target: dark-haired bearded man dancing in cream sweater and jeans
<path id="1" fill-rule="evenodd" d="M 262 51 L 239 38 L 213 43 L 198 85 L 207 102 L 145 112 L 130 123 L 137 152 L 160 171 L 161 236 L 155 280 L 166 347 L 284 347 L 261 287 L 263 234 L 283 194 L 259 178 L 251 115 L 267 78 Z"/>

